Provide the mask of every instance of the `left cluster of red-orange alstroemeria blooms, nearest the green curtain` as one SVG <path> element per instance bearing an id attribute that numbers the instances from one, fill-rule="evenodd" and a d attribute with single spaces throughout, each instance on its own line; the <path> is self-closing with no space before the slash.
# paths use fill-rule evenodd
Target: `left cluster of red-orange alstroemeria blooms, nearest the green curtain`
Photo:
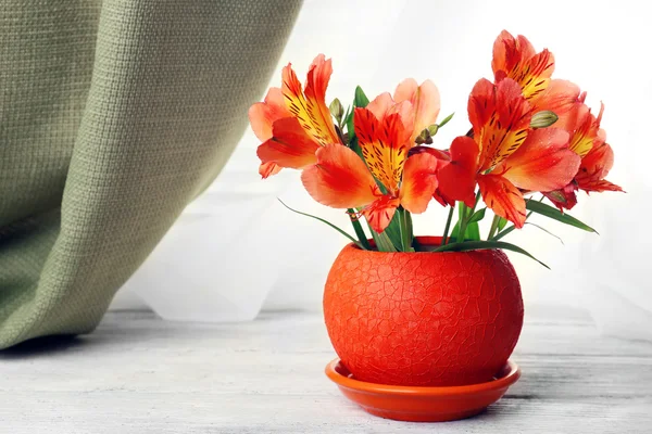
<path id="1" fill-rule="evenodd" d="M 325 102 L 333 68 L 318 55 L 310 67 L 305 91 L 291 66 L 283 71 L 283 87 L 272 88 L 265 102 L 249 111 L 252 128 L 264 142 L 258 149 L 261 175 L 283 167 L 303 169 L 301 179 L 319 203 L 360 208 L 369 226 L 383 232 L 396 209 L 426 210 L 437 188 L 438 159 L 409 157 L 416 137 L 435 123 L 439 92 L 427 80 L 401 82 L 392 95 L 383 93 L 354 111 L 354 132 L 364 161 L 342 144 Z"/>

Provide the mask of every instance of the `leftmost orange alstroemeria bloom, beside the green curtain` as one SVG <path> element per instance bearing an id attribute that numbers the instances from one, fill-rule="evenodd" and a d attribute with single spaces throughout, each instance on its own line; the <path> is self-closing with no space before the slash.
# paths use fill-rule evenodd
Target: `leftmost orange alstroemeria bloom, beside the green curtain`
<path id="1" fill-rule="evenodd" d="M 300 169 L 314 164 L 319 146 L 340 143 L 326 105 L 331 74 L 330 59 L 317 55 L 302 90 L 288 64 L 283 68 L 281 88 L 271 88 L 264 102 L 249 108 L 251 128 L 263 141 L 258 149 L 259 173 L 263 178 L 277 174 L 283 167 Z"/>

